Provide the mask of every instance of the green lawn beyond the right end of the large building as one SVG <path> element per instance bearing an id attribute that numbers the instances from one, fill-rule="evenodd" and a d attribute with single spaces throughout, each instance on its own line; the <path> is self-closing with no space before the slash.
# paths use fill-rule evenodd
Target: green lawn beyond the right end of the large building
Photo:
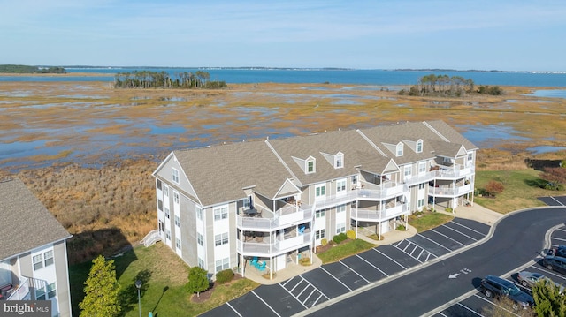
<path id="1" fill-rule="evenodd" d="M 495 198 L 474 197 L 479 205 L 507 214 L 514 210 L 545 206 L 538 200 L 541 196 L 566 195 L 566 191 L 550 191 L 541 186 L 547 184 L 539 178 L 539 170 L 478 170 L 476 172 L 476 188 L 483 188 L 490 180 L 501 182 L 505 189 Z"/>

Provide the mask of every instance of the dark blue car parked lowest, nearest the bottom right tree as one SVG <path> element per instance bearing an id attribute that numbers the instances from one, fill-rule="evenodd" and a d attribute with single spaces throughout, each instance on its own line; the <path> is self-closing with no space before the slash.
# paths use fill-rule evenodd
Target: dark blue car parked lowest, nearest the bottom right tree
<path id="1" fill-rule="evenodd" d="M 505 296 L 513 300 L 515 302 L 513 309 L 528 308 L 534 304 L 531 295 L 519 290 L 514 283 L 501 277 L 487 275 L 486 278 L 481 280 L 480 286 L 482 292 L 488 298 Z"/>

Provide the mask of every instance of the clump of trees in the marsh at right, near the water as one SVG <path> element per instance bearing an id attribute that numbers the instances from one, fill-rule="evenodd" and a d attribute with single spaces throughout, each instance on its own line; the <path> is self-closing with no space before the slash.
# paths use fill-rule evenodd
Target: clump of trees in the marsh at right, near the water
<path id="1" fill-rule="evenodd" d="M 503 90 L 499 86 L 480 86 L 475 89 L 472 79 L 464 79 L 462 76 L 435 75 L 430 74 L 418 79 L 417 85 L 402 89 L 398 94 L 413 96 L 447 96 L 463 97 L 465 94 L 492 94 L 501 95 Z"/>

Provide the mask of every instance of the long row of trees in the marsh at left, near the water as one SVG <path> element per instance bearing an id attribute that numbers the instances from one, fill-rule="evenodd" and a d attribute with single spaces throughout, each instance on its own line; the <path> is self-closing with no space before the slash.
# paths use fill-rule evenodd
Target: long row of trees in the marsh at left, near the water
<path id="1" fill-rule="evenodd" d="M 114 77 L 115 88 L 225 88 L 226 81 L 210 80 L 210 73 L 203 71 L 179 72 L 174 77 L 165 71 L 118 72 Z"/>

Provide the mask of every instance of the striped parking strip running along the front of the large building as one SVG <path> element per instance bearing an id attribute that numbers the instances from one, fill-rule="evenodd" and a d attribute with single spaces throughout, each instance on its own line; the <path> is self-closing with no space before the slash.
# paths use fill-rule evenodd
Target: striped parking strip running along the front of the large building
<path id="1" fill-rule="evenodd" d="M 262 285 L 203 316 L 290 316 L 473 244 L 489 229 L 484 223 L 455 218 L 393 245 L 380 245 L 287 281 Z"/>

